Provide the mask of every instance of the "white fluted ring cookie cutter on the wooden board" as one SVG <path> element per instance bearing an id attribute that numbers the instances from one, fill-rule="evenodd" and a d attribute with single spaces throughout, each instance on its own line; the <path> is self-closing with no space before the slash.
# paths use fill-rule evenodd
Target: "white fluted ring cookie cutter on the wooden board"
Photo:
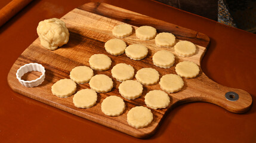
<path id="1" fill-rule="evenodd" d="M 21 79 L 21 77 L 29 71 L 39 71 L 42 73 L 42 75 L 35 80 L 28 81 L 28 80 Z M 32 88 L 44 82 L 45 69 L 41 64 L 38 64 L 38 63 L 25 64 L 24 66 L 21 66 L 20 69 L 17 70 L 16 77 L 18 79 L 18 82 L 21 83 L 21 85 L 26 86 L 27 88 Z"/>

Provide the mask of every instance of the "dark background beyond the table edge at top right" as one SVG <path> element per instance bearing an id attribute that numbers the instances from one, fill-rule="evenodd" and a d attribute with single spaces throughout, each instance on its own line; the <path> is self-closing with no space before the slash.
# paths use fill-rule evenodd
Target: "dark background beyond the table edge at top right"
<path id="1" fill-rule="evenodd" d="M 256 33 L 255 0 L 155 0 L 175 8 L 201 15 L 224 24 L 235 24 L 235 27 Z M 220 2 L 222 1 L 222 2 Z M 224 6 L 224 7 L 223 7 Z M 232 20 L 227 21 L 227 19 Z"/>

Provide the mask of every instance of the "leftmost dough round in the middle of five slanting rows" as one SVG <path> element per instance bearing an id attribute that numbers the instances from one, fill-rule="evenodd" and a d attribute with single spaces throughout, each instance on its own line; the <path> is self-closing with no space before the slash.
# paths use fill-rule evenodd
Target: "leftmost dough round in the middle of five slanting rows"
<path id="1" fill-rule="evenodd" d="M 89 59 L 91 69 L 94 70 L 108 70 L 111 66 L 111 59 L 104 54 L 94 54 Z"/>

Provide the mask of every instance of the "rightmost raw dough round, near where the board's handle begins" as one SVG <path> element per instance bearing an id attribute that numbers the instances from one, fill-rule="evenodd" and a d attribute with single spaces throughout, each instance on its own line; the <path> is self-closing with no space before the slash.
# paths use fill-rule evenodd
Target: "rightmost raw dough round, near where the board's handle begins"
<path id="1" fill-rule="evenodd" d="M 182 61 L 176 65 L 175 71 L 179 76 L 189 79 L 198 76 L 200 69 L 192 61 Z"/>

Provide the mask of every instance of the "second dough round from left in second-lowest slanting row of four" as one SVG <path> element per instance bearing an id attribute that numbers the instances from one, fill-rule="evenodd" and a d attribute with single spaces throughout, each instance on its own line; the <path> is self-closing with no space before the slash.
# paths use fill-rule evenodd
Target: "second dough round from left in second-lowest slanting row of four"
<path id="1" fill-rule="evenodd" d="M 94 91 L 105 93 L 111 91 L 113 88 L 113 81 L 105 74 L 97 74 L 94 77 L 91 77 L 89 85 Z"/>

